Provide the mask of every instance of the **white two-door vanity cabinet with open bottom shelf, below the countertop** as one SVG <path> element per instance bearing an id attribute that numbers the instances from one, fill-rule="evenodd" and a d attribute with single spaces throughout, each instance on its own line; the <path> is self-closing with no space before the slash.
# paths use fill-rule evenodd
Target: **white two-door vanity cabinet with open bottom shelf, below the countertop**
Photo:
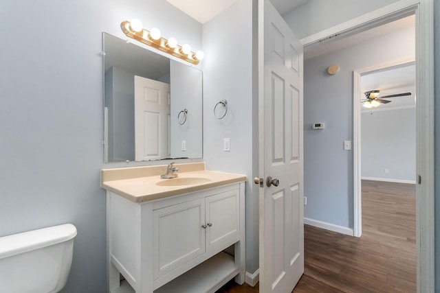
<path id="1" fill-rule="evenodd" d="M 234 277 L 243 283 L 244 208 L 244 182 L 147 202 L 107 191 L 109 292 L 214 292 Z"/>

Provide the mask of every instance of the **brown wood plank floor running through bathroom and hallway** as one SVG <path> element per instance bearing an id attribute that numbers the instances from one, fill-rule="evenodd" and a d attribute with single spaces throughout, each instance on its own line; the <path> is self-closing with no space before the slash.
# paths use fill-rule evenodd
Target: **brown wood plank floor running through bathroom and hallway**
<path id="1" fill-rule="evenodd" d="M 293 292 L 416 292 L 415 185 L 362 180 L 362 237 L 305 225 Z M 255 293 L 228 283 L 218 293 Z"/>

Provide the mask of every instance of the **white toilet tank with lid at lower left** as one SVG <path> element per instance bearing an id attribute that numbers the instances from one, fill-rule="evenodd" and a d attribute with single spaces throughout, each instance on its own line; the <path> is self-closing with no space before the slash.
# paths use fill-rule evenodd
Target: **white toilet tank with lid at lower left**
<path id="1" fill-rule="evenodd" d="M 0 292 L 49 293 L 63 289 L 76 227 L 63 224 L 0 237 Z"/>

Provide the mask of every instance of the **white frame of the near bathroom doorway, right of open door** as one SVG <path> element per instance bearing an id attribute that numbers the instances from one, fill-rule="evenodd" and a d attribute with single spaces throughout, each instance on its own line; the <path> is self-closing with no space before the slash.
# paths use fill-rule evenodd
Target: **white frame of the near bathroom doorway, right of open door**
<path id="1" fill-rule="evenodd" d="M 355 34 L 403 16 L 416 17 L 416 219 L 417 219 L 417 292 L 434 292 L 434 0 L 400 0 L 301 39 L 307 47 L 333 37 Z M 353 154 L 354 155 L 354 154 Z M 359 154 L 357 154 L 359 156 Z M 356 159 L 356 158 L 353 158 Z M 354 166 L 353 166 L 354 167 Z M 358 166 L 356 166 L 358 167 Z M 353 172 L 356 169 L 353 169 Z M 421 180 L 419 180 L 419 178 Z M 354 191 L 359 192 L 358 178 Z M 353 194 L 354 196 L 354 194 Z M 360 211 L 358 196 L 353 197 L 354 211 Z M 354 218 L 354 217 L 357 218 Z M 359 231 L 360 214 L 353 215 L 354 231 Z M 355 232 L 356 233 L 356 232 Z"/>

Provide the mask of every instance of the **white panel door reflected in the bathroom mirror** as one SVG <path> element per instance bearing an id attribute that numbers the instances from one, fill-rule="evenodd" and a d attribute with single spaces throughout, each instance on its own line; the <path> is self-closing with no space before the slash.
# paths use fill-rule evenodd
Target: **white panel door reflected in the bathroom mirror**
<path id="1" fill-rule="evenodd" d="M 135 160 L 163 159 L 168 151 L 170 85 L 135 76 Z"/>

